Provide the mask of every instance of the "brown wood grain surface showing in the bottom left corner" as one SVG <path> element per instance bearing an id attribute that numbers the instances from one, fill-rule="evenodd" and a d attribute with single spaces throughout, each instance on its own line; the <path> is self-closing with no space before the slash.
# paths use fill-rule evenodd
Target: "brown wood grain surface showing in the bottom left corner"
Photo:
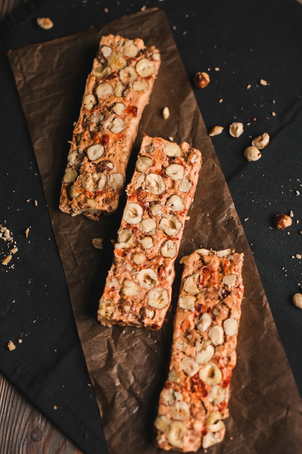
<path id="1" fill-rule="evenodd" d="M 0 374 L 0 454 L 83 454 Z"/>

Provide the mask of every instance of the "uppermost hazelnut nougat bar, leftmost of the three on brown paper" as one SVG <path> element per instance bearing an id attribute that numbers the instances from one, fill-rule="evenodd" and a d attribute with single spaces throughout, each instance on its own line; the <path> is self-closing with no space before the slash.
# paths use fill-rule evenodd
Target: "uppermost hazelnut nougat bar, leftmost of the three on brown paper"
<path id="1" fill-rule="evenodd" d="M 60 209 L 97 220 L 116 210 L 160 54 L 142 39 L 103 36 L 86 81 L 62 181 Z"/>

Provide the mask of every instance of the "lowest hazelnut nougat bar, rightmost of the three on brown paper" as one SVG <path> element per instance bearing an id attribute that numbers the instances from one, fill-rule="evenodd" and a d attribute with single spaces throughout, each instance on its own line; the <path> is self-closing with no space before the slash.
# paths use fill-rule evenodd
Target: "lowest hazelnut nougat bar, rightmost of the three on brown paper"
<path id="1" fill-rule="evenodd" d="M 184 257 L 168 380 L 159 397 L 155 444 L 197 451 L 222 441 L 236 364 L 243 254 L 199 249 Z"/>

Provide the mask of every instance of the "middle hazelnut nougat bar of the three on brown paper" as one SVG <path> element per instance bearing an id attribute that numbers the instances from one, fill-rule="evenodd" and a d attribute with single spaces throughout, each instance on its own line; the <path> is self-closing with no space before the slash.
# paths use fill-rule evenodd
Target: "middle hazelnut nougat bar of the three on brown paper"
<path id="1" fill-rule="evenodd" d="M 100 300 L 102 325 L 150 330 L 163 325 L 201 160 L 200 151 L 186 142 L 144 135 Z"/>

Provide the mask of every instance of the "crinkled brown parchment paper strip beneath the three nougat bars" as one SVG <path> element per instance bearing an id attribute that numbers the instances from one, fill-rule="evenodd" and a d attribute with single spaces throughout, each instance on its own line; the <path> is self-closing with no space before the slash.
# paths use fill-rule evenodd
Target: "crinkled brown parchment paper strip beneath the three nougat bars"
<path id="1" fill-rule="evenodd" d="M 145 10 L 99 29 L 30 45 L 8 53 L 34 144 L 53 230 L 62 257 L 74 316 L 89 374 L 101 410 L 110 454 L 163 453 L 151 442 L 151 427 L 166 378 L 172 340 L 173 311 L 160 331 L 102 327 L 97 302 L 111 265 L 125 197 L 113 217 L 92 222 L 59 211 L 61 178 L 77 120 L 86 75 L 104 34 L 140 37 L 155 45 L 162 64 L 150 104 L 144 110 L 129 181 L 143 132 L 187 141 L 203 154 L 195 201 L 189 210 L 176 261 L 173 306 L 182 266 L 179 259 L 194 249 L 235 247 L 244 257 L 244 301 L 238 339 L 238 362 L 231 382 L 230 418 L 222 444 L 213 454 L 302 452 L 302 403 L 273 322 L 249 244 L 221 171 L 215 150 L 162 11 Z M 161 112 L 168 105 L 170 118 Z M 208 216 L 207 216 L 208 214 Z M 104 251 L 91 238 L 104 238 Z"/>

